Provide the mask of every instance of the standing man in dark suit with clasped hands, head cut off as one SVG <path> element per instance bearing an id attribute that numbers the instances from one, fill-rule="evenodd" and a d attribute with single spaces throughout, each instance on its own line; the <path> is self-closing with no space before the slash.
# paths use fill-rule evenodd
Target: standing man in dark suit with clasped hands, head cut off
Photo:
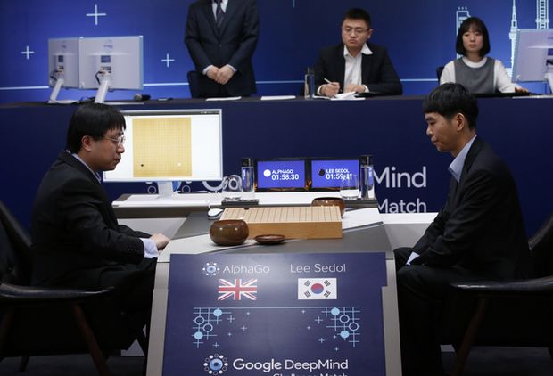
<path id="1" fill-rule="evenodd" d="M 257 0 L 198 0 L 190 5 L 185 43 L 200 97 L 257 91 L 252 55 L 259 33 Z"/>

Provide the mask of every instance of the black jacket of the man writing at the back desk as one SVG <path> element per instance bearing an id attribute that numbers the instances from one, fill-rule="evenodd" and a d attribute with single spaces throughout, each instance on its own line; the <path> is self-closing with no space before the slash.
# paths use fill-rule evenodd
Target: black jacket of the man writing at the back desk
<path id="1" fill-rule="evenodd" d="M 372 94 L 400 95 L 403 87 L 400 78 L 393 69 L 392 60 L 388 51 L 382 45 L 368 43 L 368 48 L 373 52 L 363 55 L 361 61 L 361 83 L 368 87 Z M 340 83 L 340 91 L 343 91 L 343 78 L 345 74 L 345 59 L 343 58 L 343 43 L 326 47 L 318 55 L 315 64 L 315 86 L 325 84 L 325 78 Z"/>

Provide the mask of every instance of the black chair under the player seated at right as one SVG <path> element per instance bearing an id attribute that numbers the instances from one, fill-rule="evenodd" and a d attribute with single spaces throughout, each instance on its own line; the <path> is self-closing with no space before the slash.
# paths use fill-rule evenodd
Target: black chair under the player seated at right
<path id="1" fill-rule="evenodd" d="M 457 350 L 451 376 L 473 346 L 548 347 L 553 358 L 553 214 L 528 243 L 532 278 L 453 284 L 441 333 Z"/>

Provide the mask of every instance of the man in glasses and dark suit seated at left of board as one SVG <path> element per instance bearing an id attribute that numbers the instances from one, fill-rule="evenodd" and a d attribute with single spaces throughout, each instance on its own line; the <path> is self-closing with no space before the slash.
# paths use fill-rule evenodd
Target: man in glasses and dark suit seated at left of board
<path id="1" fill-rule="evenodd" d="M 38 187 L 32 214 L 34 285 L 115 286 L 120 307 L 142 329 L 150 318 L 156 257 L 169 239 L 119 225 L 99 173 L 125 151 L 125 119 L 112 106 L 75 111 L 60 152 Z"/>

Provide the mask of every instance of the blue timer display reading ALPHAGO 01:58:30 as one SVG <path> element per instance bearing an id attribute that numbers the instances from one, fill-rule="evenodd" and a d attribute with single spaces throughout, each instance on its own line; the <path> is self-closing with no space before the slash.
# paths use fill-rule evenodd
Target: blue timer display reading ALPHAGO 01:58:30
<path id="1" fill-rule="evenodd" d="M 305 188 L 304 160 L 258 160 L 258 189 Z"/>

